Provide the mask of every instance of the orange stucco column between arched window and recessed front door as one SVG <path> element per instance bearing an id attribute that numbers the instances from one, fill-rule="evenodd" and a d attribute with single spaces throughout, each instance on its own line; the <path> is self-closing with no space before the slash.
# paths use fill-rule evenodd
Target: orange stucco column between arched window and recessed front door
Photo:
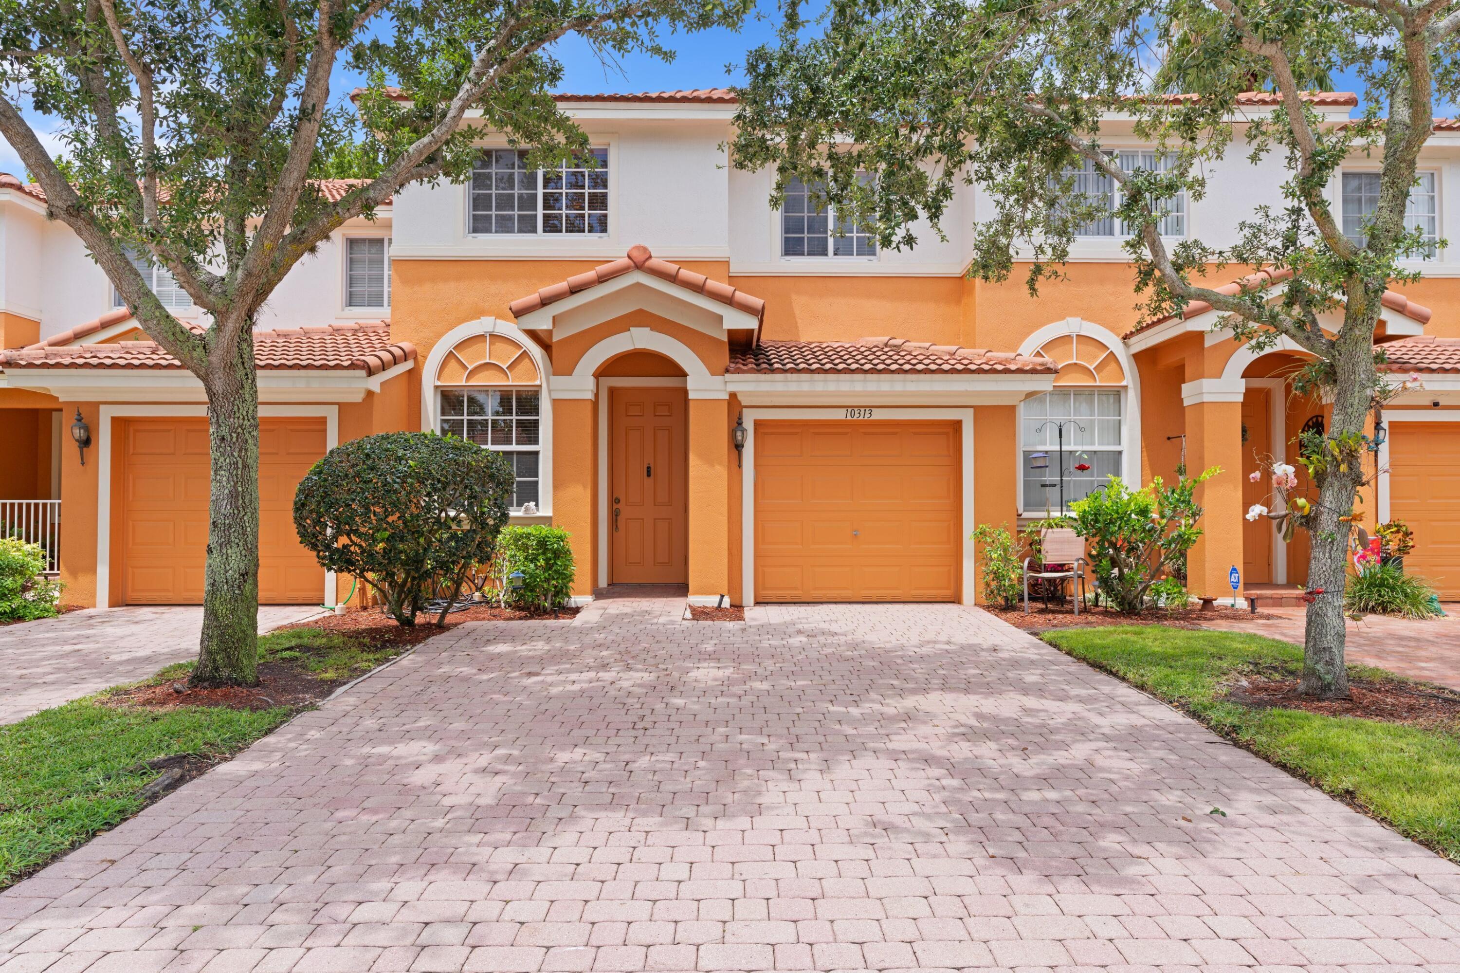
<path id="1" fill-rule="evenodd" d="M 572 593 L 591 596 L 599 564 L 594 519 L 597 422 L 593 399 L 553 399 L 552 522 L 568 532 L 572 546 Z"/>

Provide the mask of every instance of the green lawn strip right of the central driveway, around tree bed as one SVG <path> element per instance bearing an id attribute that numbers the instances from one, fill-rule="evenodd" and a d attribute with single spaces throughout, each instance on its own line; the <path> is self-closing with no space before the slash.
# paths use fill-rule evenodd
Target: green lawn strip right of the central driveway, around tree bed
<path id="1" fill-rule="evenodd" d="M 1070 628 L 1042 637 L 1460 862 L 1460 735 L 1301 710 L 1257 710 L 1223 698 L 1223 681 L 1242 672 L 1296 678 L 1302 668 L 1296 646 L 1161 625 Z M 1397 678 L 1359 666 L 1350 674 Z"/>

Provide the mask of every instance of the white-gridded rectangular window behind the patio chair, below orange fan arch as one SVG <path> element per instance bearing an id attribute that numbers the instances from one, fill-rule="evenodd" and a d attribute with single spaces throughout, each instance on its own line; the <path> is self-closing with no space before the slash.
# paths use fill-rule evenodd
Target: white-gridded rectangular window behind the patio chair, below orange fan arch
<path id="1" fill-rule="evenodd" d="M 1023 513 L 1060 513 L 1060 424 L 1066 510 L 1121 475 L 1121 392 L 1045 392 L 1019 405 L 1019 424 Z"/>

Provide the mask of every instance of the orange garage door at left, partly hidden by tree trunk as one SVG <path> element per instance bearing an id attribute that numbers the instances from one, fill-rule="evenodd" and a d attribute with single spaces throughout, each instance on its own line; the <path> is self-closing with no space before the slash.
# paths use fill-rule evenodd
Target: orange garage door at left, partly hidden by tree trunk
<path id="1" fill-rule="evenodd" d="M 324 568 L 293 533 L 293 491 L 324 456 L 324 419 L 261 419 L 258 428 L 258 600 L 310 605 Z M 207 424 L 127 419 L 117 497 L 126 605 L 203 600 L 207 548 Z"/>

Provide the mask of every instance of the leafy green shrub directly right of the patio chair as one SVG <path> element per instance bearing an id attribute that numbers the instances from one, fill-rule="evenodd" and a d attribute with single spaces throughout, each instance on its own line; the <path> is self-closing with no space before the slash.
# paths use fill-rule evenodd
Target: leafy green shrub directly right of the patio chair
<path id="1" fill-rule="evenodd" d="M 1200 476 L 1183 476 L 1167 487 L 1155 476 L 1130 489 L 1118 476 L 1089 497 L 1070 504 L 1075 529 L 1089 542 L 1091 568 L 1101 596 L 1118 612 L 1146 606 L 1150 587 L 1186 557 L 1202 529 L 1202 507 L 1193 494 L 1197 484 L 1216 476 L 1216 466 Z"/>

